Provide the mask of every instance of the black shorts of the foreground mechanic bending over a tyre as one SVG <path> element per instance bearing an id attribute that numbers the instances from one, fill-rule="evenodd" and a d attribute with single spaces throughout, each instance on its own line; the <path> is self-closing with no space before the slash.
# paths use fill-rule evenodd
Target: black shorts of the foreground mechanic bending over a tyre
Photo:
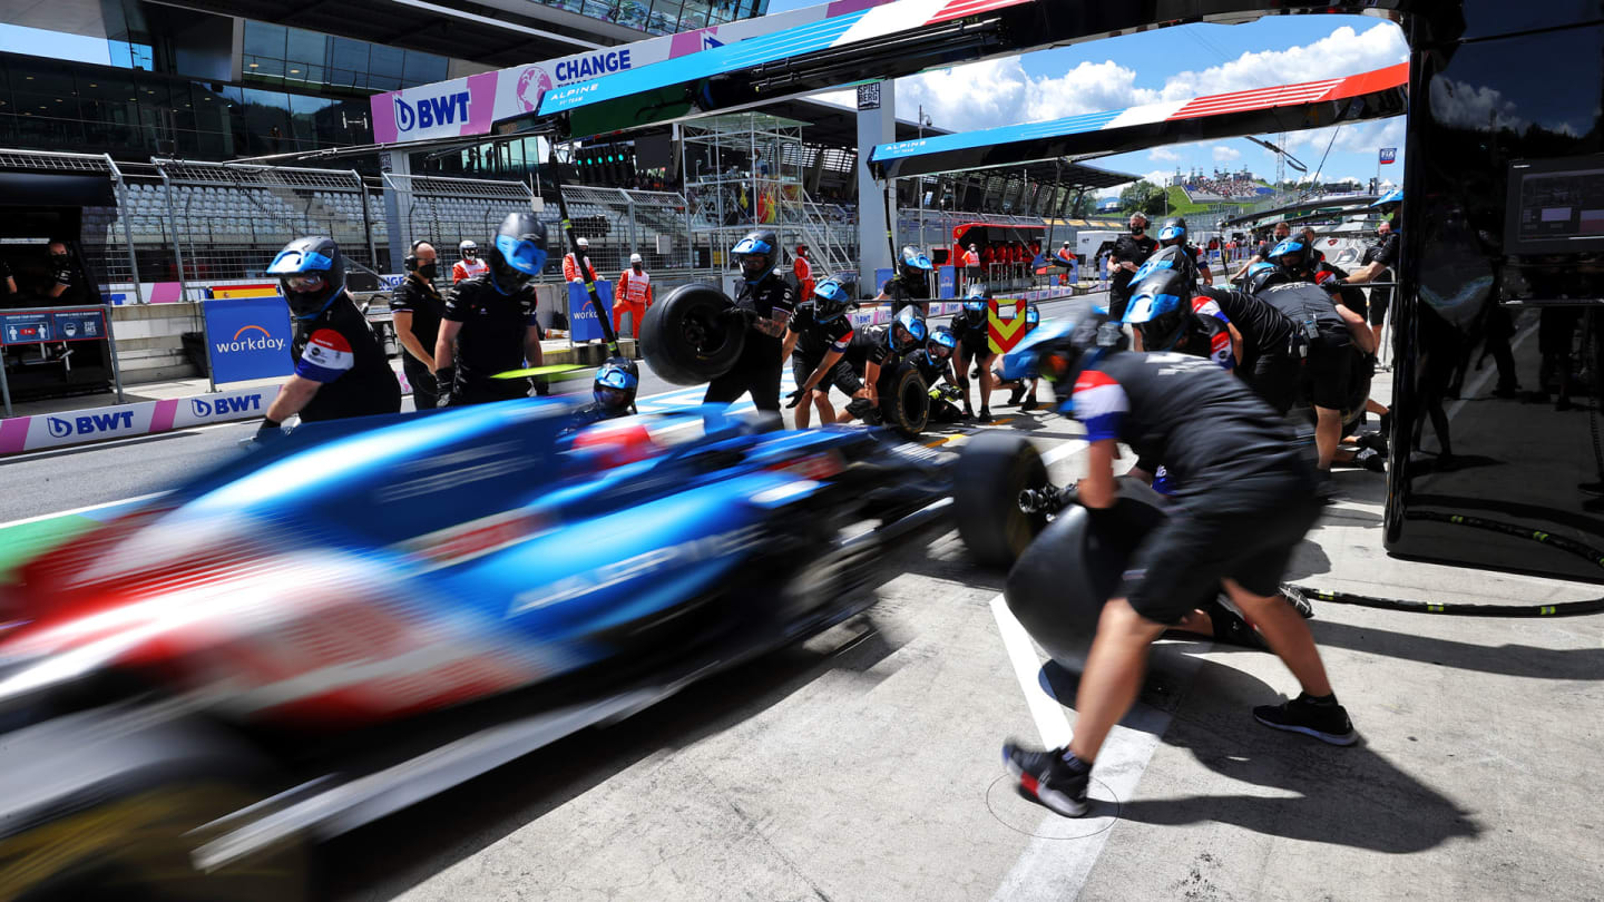
<path id="1" fill-rule="evenodd" d="M 1233 510 L 1211 514 L 1209 496 L 1171 507 L 1136 554 L 1115 597 L 1155 623 L 1177 623 L 1213 599 L 1221 579 L 1235 579 L 1254 595 L 1275 595 L 1293 552 L 1320 518 L 1307 480 L 1298 477 L 1232 483 Z M 1241 506 L 1241 493 L 1258 504 Z"/>

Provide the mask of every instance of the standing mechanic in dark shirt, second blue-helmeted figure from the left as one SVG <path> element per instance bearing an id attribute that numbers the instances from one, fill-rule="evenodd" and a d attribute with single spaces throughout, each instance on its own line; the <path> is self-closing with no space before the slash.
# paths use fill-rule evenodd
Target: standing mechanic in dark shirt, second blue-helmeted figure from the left
<path id="1" fill-rule="evenodd" d="M 534 213 L 507 213 L 484 254 L 489 271 L 451 287 L 435 342 L 439 406 L 526 398 L 528 379 L 497 372 L 541 366 L 541 324 L 534 286 L 545 265 L 545 223 Z M 537 385 L 545 393 L 545 384 Z"/>

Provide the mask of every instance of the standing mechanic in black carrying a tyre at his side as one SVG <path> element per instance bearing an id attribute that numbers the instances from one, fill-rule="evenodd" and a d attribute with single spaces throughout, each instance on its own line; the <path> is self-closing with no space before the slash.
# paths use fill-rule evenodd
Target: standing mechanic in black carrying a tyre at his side
<path id="1" fill-rule="evenodd" d="M 746 233 L 731 249 L 741 266 L 741 291 L 735 295 L 733 316 L 747 323 L 746 347 L 728 372 L 707 384 L 704 404 L 728 404 L 752 395 L 752 406 L 780 412 L 781 353 L 797 292 L 775 266 L 780 265 L 780 238 L 772 230 Z"/>

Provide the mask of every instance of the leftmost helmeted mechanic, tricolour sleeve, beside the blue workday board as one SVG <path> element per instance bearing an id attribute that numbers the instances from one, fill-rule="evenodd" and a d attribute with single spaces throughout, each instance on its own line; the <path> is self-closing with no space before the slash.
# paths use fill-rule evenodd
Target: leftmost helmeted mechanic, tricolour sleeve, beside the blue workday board
<path id="1" fill-rule="evenodd" d="M 295 318 L 295 374 L 268 404 L 257 441 L 302 422 L 393 414 L 401 385 L 367 318 L 345 291 L 345 257 L 332 238 L 298 238 L 268 265 Z"/>

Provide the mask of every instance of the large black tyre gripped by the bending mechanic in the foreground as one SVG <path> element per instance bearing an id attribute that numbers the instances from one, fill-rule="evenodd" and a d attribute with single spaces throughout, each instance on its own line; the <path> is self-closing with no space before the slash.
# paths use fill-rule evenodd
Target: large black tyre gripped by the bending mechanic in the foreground
<path id="1" fill-rule="evenodd" d="M 1003 591 L 1007 607 L 1059 666 L 1081 672 L 1104 602 L 1131 554 L 1165 522 L 1165 498 L 1121 478 L 1113 507 L 1071 504 L 1019 557 Z"/>

